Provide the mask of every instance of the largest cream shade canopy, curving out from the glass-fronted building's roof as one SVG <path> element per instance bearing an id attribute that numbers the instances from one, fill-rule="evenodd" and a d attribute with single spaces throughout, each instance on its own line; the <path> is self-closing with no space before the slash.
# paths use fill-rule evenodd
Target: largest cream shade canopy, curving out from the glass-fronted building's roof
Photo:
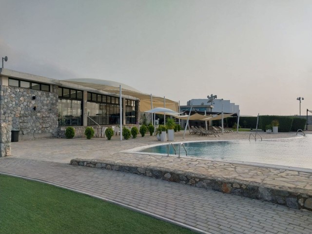
<path id="1" fill-rule="evenodd" d="M 119 83 L 119 82 L 104 80 L 104 79 L 93 79 L 93 78 L 75 78 L 75 79 L 67 79 L 67 80 L 60 80 L 60 81 L 65 81 L 65 82 L 81 85 L 84 87 L 105 91 L 107 93 L 115 93 L 115 94 L 119 94 L 119 85 L 121 85 L 122 95 L 132 96 L 140 100 L 141 112 L 145 112 L 151 109 L 151 95 L 150 94 L 141 93 L 137 89 L 132 88 L 128 85 Z M 170 100 L 170 99 L 166 99 L 166 98 L 157 97 L 157 96 L 152 96 L 152 98 L 153 98 L 153 107 L 163 107 L 164 99 L 165 99 L 166 107 L 174 111 L 178 111 L 178 102 Z"/>

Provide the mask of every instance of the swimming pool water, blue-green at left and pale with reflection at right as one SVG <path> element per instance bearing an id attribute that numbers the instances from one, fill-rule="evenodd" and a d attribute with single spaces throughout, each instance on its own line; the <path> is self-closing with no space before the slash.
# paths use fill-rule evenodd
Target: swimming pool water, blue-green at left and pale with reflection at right
<path id="1" fill-rule="evenodd" d="M 177 154 L 179 144 L 174 144 Z M 266 163 L 282 166 L 312 169 L 312 136 L 263 141 L 229 140 L 184 143 L 191 157 L 224 159 L 253 163 Z M 140 152 L 167 154 L 168 144 L 158 145 Z M 171 147 L 170 154 L 174 155 Z M 181 148 L 181 156 L 185 151 Z"/>

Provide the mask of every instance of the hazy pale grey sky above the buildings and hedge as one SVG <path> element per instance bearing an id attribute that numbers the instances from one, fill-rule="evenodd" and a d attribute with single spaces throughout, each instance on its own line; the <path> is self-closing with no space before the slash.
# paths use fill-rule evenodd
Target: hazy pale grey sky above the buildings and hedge
<path id="1" fill-rule="evenodd" d="M 4 68 L 114 80 L 241 115 L 312 110 L 311 0 L 0 0 Z"/>

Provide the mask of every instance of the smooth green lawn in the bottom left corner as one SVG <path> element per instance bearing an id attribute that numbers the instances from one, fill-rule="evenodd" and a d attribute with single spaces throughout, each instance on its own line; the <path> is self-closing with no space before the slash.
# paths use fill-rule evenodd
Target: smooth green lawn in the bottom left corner
<path id="1" fill-rule="evenodd" d="M 191 234 L 48 184 L 0 175 L 0 234 Z"/>

